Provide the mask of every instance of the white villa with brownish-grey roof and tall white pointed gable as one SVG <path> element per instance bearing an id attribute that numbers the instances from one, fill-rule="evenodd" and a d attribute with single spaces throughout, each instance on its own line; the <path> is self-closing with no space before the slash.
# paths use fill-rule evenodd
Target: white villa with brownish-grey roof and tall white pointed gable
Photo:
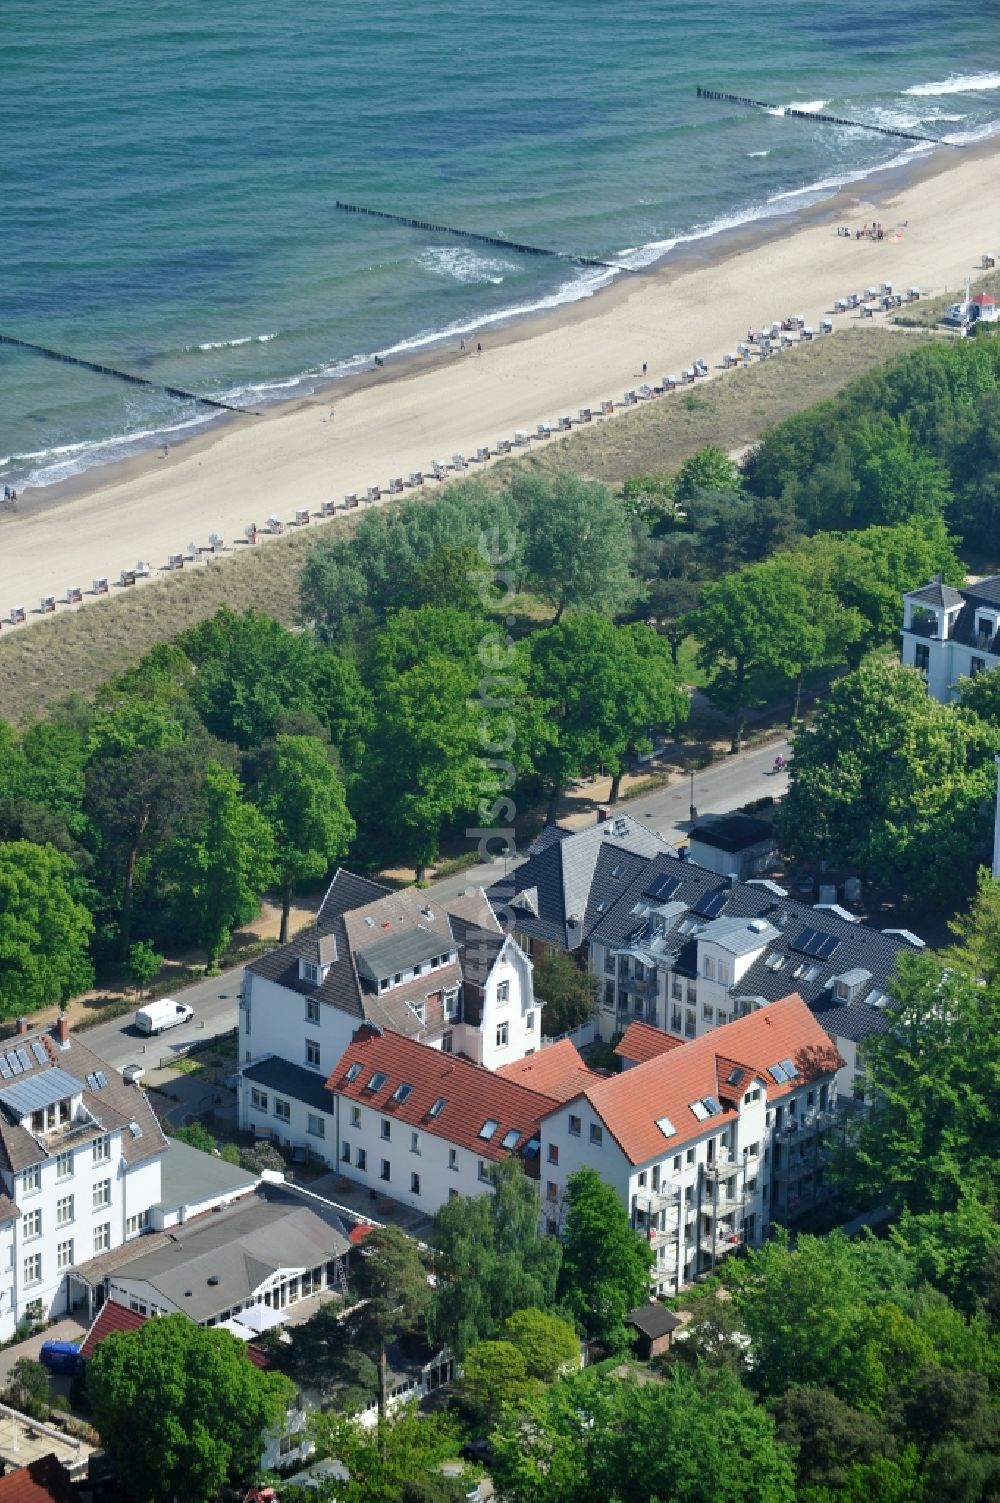
<path id="1" fill-rule="evenodd" d="M 241 1127 L 329 1160 L 325 1081 L 361 1024 L 496 1069 L 540 1046 L 540 1007 L 481 890 L 439 902 L 341 870 L 316 927 L 247 966 Z"/>

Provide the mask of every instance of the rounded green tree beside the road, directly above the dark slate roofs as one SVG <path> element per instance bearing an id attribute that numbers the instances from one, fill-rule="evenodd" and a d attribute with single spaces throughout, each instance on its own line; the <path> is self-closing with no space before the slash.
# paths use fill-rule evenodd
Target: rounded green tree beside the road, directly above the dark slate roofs
<path id="1" fill-rule="evenodd" d="M 626 758 L 650 745 L 650 733 L 674 730 L 687 715 L 669 651 L 648 627 L 615 627 L 594 612 L 537 631 L 529 642 L 529 685 L 549 726 L 535 768 L 556 815 L 565 785 L 606 764 L 615 782 Z"/>

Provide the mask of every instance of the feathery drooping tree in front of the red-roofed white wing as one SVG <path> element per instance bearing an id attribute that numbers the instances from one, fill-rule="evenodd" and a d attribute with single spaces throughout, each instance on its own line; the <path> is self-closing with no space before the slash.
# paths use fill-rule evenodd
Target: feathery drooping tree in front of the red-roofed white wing
<path id="1" fill-rule="evenodd" d="M 537 1183 L 517 1159 L 493 1165 L 490 1178 L 492 1195 L 447 1201 L 430 1232 L 438 1282 L 427 1330 L 459 1360 L 514 1311 L 555 1303 L 562 1254 L 553 1237 L 540 1235 Z"/>

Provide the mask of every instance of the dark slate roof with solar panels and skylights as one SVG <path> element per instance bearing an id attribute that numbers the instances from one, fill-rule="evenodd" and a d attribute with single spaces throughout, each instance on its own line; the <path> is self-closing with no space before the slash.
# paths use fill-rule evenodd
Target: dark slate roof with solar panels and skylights
<path id="1" fill-rule="evenodd" d="M 654 941 L 651 930 L 657 900 L 650 896 L 650 888 L 662 887 L 660 878 L 672 878 L 678 885 L 659 905 L 666 914 L 666 933 Z M 675 855 L 657 857 L 656 861 L 645 863 L 642 873 L 594 926 L 589 938 L 617 950 L 647 945 L 654 959 L 669 963 L 681 974 L 695 975 L 701 929 L 719 918 L 762 918 L 773 926 L 777 938 L 770 939 L 765 954 L 753 962 L 734 987 L 734 996 L 773 1003 L 797 992 L 835 1037 L 860 1042 L 874 1033 L 884 1033 L 881 1003 L 877 1006 L 872 999 L 883 998 L 895 972 L 896 957 L 913 948 L 902 935 L 881 933 L 839 918 L 829 909 L 820 911 L 794 897 L 779 897 L 774 885 L 765 882 L 731 884 L 722 909 L 711 918 L 692 912 L 699 900 L 723 888 L 716 872 Z M 836 948 L 829 957 L 821 960 L 795 950 L 795 941 L 805 929 L 815 929 L 836 939 Z M 871 980 L 854 1001 L 838 1003 L 833 983 L 853 969 L 868 971 Z"/>

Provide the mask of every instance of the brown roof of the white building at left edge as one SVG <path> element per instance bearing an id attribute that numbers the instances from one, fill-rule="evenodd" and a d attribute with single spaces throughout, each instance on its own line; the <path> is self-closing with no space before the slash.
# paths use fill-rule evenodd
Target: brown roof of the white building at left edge
<path id="1" fill-rule="evenodd" d="M 6 1063 L 11 1054 L 17 1055 L 20 1066 L 17 1075 Z M 44 1163 L 50 1153 L 81 1147 L 104 1133 L 122 1135 L 122 1156 L 129 1166 L 165 1151 L 167 1139 L 143 1090 L 126 1085 L 122 1073 L 81 1043 L 77 1034 L 68 1034 L 66 1043 L 60 1045 L 56 1028 L 35 1028 L 6 1040 L 0 1055 L 8 1072 L 0 1079 L 0 1168 L 8 1172 Z M 39 1136 L 30 1132 L 30 1123 L 29 1127 L 21 1126 L 26 1112 L 68 1094 L 81 1096 L 84 1121 L 89 1118 L 92 1126 L 74 1124 Z"/>

